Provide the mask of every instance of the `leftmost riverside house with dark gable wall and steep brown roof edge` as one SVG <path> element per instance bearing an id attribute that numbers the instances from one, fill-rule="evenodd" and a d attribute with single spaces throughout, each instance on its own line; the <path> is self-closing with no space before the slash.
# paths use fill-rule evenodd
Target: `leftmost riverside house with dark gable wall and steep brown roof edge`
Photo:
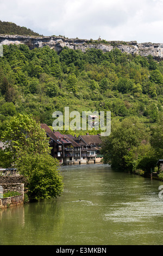
<path id="1" fill-rule="evenodd" d="M 51 155 L 59 160 L 59 163 L 64 162 L 64 146 L 60 139 L 58 139 L 54 132 L 47 126 L 47 124 L 41 124 L 41 128 L 46 131 L 46 135 L 49 138 L 49 146 L 51 147 Z"/>

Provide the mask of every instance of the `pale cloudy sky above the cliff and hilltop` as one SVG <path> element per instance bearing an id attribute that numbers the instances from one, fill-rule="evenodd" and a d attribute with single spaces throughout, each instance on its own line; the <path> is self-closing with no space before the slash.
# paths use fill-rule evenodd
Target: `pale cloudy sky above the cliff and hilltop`
<path id="1" fill-rule="evenodd" d="M 0 20 L 45 36 L 163 43 L 163 0 L 0 0 Z"/>

